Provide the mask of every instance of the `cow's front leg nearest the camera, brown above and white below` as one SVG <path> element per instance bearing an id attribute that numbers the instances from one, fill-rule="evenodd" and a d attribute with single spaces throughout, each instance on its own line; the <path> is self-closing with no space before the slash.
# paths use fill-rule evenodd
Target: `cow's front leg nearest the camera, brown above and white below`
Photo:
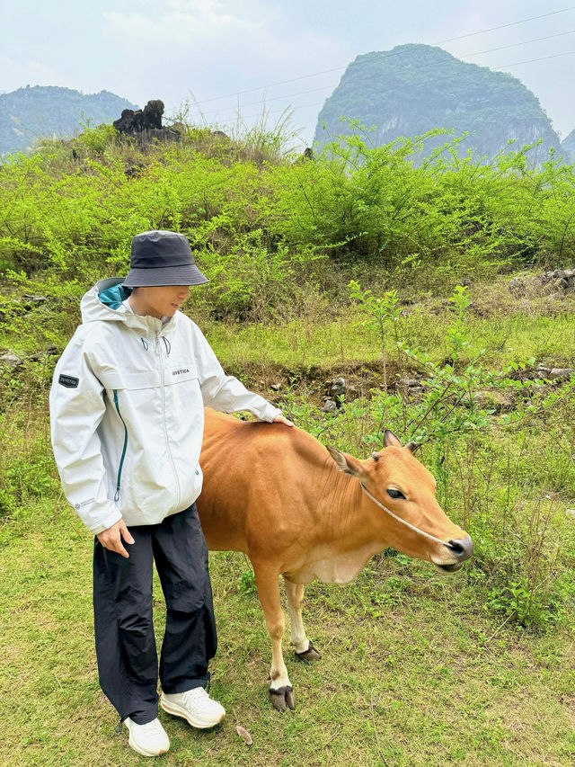
<path id="1" fill-rule="evenodd" d="M 255 583 L 258 587 L 261 607 L 271 637 L 270 700 L 275 709 L 295 709 L 294 691 L 289 682 L 288 669 L 281 652 L 281 638 L 286 628 L 286 619 L 279 602 L 279 574 L 265 566 L 258 567 L 252 562 Z"/>

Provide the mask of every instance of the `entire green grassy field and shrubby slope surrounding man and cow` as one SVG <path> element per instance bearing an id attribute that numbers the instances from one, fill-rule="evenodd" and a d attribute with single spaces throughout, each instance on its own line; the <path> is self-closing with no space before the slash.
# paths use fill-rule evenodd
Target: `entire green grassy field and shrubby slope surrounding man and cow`
<path id="1" fill-rule="evenodd" d="M 125 274 L 132 237 L 155 227 L 192 237 L 209 283 L 184 309 L 227 372 L 360 459 L 385 427 L 421 441 L 474 541 L 455 575 L 385 551 L 353 584 L 310 585 L 323 658 L 296 661 L 286 635 L 283 715 L 250 564 L 211 554 L 227 717 L 200 732 L 161 711 L 158 763 L 575 763 L 575 375 L 537 372 L 575 368 L 573 286 L 540 279 L 573 263 L 573 167 L 529 169 L 511 147 L 449 160 L 457 139 L 413 165 L 411 141 L 360 136 L 301 162 L 289 130 L 230 143 L 190 128 L 140 151 L 98 127 L 2 167 L 0 356 L 29 359 L 0 363 L 0 767 L 149 763 L 98 684 L 92 537 L 60 492 L 48 391 L 86 282 Z M 326 414 L 339 376 L 344 406 Z M 156 579 L 157 638 L 164 613 Z"/>

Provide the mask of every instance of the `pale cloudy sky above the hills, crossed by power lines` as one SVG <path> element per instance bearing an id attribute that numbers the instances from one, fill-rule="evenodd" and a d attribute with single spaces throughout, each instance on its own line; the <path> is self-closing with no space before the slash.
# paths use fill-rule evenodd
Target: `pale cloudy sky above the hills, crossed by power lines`
<path id="1" fill-rule="evenodd" d="M 0 0 L 0 91 L 28 84 L 109 90 L 140 106 L 161 98 L 166 116 L 189 99 L 191 121 L 222 129 L 235 120 L 238 100 L 252 124 L 265 99 L 270 127 L 284 107 L 296 107 L 291 124 L 308 145 L 323 100 L 358 54 L 434 44 L 568 7 L 561 0 Z M 543 37 L 550 39 L 515 45 Z M 509 66 L 575 51 L 575 6 L 441 47 L 520 78 L 562 138 L 575 128 L 575 55 Z"/>

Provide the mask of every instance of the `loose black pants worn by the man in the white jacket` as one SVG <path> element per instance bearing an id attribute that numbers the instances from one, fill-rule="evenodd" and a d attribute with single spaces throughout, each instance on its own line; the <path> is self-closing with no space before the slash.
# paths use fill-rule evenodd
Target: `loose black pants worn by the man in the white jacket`
<path id="1" fill-rule="evenodd" d="M 137 525 L 121 557 L 94 539 L 93 612 L 100 684 L 121 718 L 157 716 L 158 664 L 152 622 L 153 560 L 167 608 L 160 656 L 164 692 L 206 686 L 217 634 L 208 547 L 196 504 L 164 522 Z"/>

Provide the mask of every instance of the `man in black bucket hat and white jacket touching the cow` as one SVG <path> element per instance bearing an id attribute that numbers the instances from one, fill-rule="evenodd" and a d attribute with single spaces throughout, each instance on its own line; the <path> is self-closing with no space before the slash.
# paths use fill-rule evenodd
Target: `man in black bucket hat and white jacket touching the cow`
<path id="1" fill-rule="evenodd" d="M 208 696 L 217 649 L 208 549 L 196 498 L 203 407 L 288 421 L 226 376 L 199 327 L 179 311 L 207 282 L 187 238 L 151 230 L 132 240 L 125 280 L 84 294 L 83 323 L 57 362 L 51 437 L 68 501 L 93 533 L 93 610 L 102 690 L 139 754 L 170 746 L 157 718 L 153 561 L 167 616 L 162 708 L 194 727 L 226 711 Z M 222 456 L 225 460 L 226 456 Z"/>

